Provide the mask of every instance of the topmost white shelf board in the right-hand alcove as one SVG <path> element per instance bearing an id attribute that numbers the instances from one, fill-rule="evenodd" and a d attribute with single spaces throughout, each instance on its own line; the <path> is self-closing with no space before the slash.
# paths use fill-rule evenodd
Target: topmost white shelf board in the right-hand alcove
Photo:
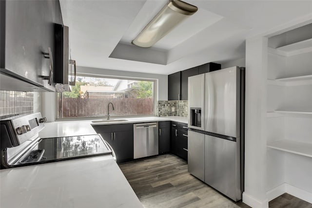
<path id="1" fill-rule="evenodd" d="M 307 53 L 312 51 L 312 38 L 295 42 L 289 45 L 276 48 L 276 50 L 287 53 L 288 56 Z"/>

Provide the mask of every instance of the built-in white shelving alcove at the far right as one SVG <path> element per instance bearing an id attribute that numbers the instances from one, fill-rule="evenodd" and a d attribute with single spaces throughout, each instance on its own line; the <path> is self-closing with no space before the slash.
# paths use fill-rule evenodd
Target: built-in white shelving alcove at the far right
<path id="1" fill-rule="evenodd" d="M 312 196 L 312 36 L 309 31 L 310 27 L 295 29 L 269 38 L 268 42 L 268 46 L 273 46 L 268 47 L 266 80 L 269 199 L 285 192 L 305 201 L 310 201 Z M 282 42 L 295 41 L 294 37 L 310 39 L 276 48 Z M 281 184 L 297 189 L 292 191 Z"/>

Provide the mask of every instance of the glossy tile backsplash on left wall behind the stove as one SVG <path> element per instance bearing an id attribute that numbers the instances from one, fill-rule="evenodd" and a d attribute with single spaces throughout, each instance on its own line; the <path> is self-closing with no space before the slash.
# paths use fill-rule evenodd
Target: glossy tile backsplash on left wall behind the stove
<path id="1" fill-rule="evenodd" d="M 0 119 L 34 112 L 34 93 L 0 90 Z"/>

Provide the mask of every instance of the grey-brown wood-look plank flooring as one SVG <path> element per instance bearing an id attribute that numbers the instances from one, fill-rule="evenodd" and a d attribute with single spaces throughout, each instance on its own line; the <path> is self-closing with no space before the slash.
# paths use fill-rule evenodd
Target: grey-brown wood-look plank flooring
<path id="1" fill-rule="evenodd" d="M 145 208 L 249 208 L 235 203 L 187 171 L 187 163 L 173 154 L 119 164 Z M 272 200 L 270 208 L 312 208 L 289 194 Z"/>

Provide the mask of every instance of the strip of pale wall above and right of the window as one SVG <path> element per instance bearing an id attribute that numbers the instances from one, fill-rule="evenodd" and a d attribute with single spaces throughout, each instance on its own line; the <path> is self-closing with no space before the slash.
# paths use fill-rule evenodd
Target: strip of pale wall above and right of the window
<path id="1" fill-rule="evenodd" d="M 102 75 L 102 76 L 121 76 L 121 77 L 134 77 L 134 78 L 147 78 L 157 80 L 157 100 L 168 100 L 168 76 L 157 75 L 139 72 L 127 72 L 119 70 L 98 69 L 91 67 L 77 67 L 77 73 L 87 75 Z"/>

